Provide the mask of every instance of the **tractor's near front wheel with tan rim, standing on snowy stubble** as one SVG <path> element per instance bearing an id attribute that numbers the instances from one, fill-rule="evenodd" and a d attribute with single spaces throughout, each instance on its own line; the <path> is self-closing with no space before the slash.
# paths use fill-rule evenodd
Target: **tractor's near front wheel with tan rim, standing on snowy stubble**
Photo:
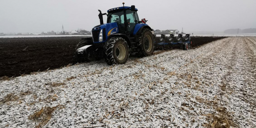
<path id="1" fill-rule="evenodd" d="M 110 38 L 104 46 L 105 61 L 108 65 L 124 64 L 129 57 L 129 47 L 124 38 Z"/>

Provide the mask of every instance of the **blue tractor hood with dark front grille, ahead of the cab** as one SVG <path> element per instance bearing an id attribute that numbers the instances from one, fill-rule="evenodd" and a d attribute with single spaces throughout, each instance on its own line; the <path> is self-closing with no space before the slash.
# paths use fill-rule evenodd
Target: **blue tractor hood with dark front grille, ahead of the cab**
<path id="1" fill-rule="evenodd" d="M 99 41 L 101 32 L 103 39 L 102 41 Z M 119 33 L 119 28 L 116 22 L 95 26 L 92 30 L 94 43 L 105 42 L 110 35 L 115 33 Z"/>

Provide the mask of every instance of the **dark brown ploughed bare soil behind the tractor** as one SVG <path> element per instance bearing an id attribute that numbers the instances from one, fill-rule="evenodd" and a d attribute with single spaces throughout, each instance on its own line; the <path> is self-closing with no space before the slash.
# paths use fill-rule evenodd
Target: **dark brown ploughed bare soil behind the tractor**
<path id="1" fill-rule="evenodd" d="M 74 49 L 81 38 L 0 38 L 0 77 L 16 77 L 75 64 Z M 223 38 L 191 37 L 192 47 Z"/>

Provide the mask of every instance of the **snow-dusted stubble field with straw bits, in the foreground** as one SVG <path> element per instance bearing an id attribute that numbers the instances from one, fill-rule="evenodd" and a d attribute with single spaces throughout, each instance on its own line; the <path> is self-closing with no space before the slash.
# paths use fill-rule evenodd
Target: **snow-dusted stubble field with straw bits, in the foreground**
<path id="1" fill-rule="evenodd" d="M 256 127 L 255 82 L 255 37 L 81 63 L 0 81 L 0 127 Z"/>

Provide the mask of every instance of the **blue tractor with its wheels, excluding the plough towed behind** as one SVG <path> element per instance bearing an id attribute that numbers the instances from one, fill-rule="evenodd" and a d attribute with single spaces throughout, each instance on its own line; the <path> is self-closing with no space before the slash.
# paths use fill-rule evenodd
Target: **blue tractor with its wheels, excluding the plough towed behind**
<path id="1" fill-rule="evenodd" d="M 83 38 L 76 45 L 75 55 L 78 61 L 90 61 L 104 57 L 109 64 L 123 64 L 129 54 L 149 56 L 153 54 L 155 35 L 145 19 L 139 20 L 138 9 L 134 5 L 108 10 L 102 14 L 98 10 L 100 25 L 92 30 L 92 37 Z M 103 15 L 108 17 L 103 23 Z"/>

